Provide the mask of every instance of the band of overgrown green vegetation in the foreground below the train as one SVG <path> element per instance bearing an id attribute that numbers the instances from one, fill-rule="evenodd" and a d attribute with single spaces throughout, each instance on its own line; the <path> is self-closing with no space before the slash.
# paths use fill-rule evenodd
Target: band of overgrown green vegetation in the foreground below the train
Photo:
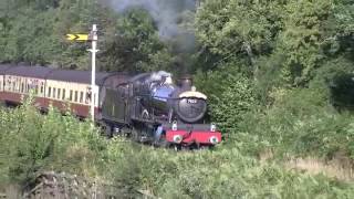
<path id="1" fill-rule="evenodd" d="M 175 153 L 98 136 L 90 123 L 29 101 L 1 111 L 1 181 L 27 186 L 44 170 L 113 181 L 122 197 L 137 189 L 162 198 L 351 198 L 353 185 L 259 161 L 237 147 Z M 247 143 L 243 143 L 247 144 Z"/>

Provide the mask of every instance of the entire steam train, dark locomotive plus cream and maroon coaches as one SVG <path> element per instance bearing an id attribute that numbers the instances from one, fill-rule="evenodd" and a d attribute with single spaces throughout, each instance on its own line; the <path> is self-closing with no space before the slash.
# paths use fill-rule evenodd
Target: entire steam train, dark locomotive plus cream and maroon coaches
<path id="1" fill-rule="evenodd" d="M 188 76 L 173 82 L 166 72 L 91 73 L 42 66 L 0 64 L 0 101 L 20 104 L 34 93 L 34 105 L 53 105 L 79 117 L 90 117 L 94 101 L 95 121 L 107 136 L 128 136 L 158 146 L 202 147 L 221 142 L 215 124 L 206 123 L 207 96 L 196 91 Z"/>

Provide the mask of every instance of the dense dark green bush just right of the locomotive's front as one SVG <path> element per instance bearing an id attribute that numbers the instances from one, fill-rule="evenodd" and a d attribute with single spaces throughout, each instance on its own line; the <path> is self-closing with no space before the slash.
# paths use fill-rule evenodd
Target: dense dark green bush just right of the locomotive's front
<path id="1" fill-rule="evenodd" d="M 207 94 L 211 122 L 217 123 L 223 134 L 235 134 L 244 114 L 257 106 L 252 80 L 241 67 L 242 63 L 229 63 L 214 72 L 196 75 L 198 90 Z"/>

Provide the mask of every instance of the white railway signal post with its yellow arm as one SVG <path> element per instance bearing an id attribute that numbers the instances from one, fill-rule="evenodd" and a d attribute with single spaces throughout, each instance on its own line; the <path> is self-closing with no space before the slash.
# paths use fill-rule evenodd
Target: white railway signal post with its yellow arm
<path id="1" fill-rule="evenodd" d="M 91 63 L 91 119 L 95 119 L 95 85 L 96 85 L 96 53 L 100 51 L 97 50 L 97 25 L 93 24 L 90 34 L 66 34 L 66 40 L 75 41 L 75 42 L 92 42 L 92 49 L 88 51 L 92 53 L 92 63 Z"/>

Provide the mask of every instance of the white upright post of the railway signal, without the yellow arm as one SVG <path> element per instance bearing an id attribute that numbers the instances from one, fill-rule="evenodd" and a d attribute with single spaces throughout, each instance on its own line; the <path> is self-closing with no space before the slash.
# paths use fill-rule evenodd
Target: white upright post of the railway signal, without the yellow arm
<path id="1" fill-rule="evenodd" d="M 98 52 L 97 50 L 97 25 L 93 24 L 92 25 L 92 31 L 91 31 L 91 41 L 92 41 L 92 49 L 88 51 L 92 53 L 92 66 L 91 66 L 91 119 L 95 121 L 95 96 L 96 96 L 96 91 L 95 91 L 95 85 L 96 85 L 96 53 Z"/>

